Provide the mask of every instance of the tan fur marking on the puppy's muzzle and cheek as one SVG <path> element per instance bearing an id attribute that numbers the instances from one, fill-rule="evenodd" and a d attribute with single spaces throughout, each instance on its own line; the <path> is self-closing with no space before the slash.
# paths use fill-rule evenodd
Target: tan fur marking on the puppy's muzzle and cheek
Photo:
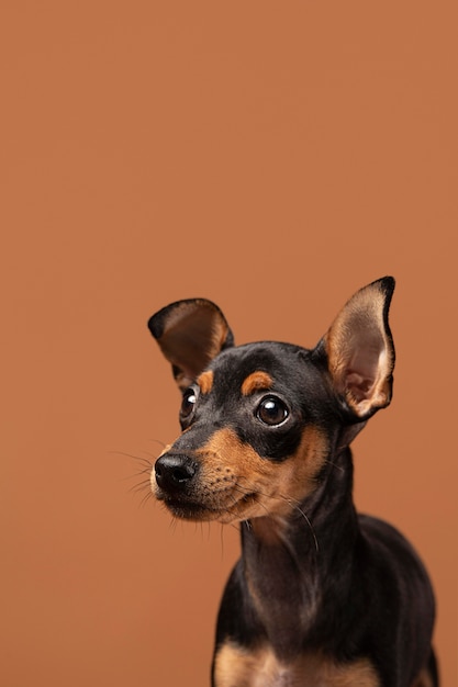
<path id="1" fill-rule="evenodd" d="M 196 451 L 201 475 L 196 497 L 205 519 L 231 522 L 259 516 L 288 516 L 315 488 L 326 455 L 324 435 L 304 430 L 295 453 L 276 463 L 258 455 L 231 429 L 216 431 Z"/>

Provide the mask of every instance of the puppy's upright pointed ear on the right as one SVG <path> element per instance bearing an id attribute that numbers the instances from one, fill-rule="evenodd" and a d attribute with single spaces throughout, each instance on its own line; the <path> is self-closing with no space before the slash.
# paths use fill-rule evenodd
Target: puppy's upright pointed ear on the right
<path id="1" fill-rule="evenodd" d="M 391 401 L 394 346 L 388 311 L 394 279 L 358 291 L 335 318 L 321 344 L 333 385 L 351 415 L 368 419 Z"/>

